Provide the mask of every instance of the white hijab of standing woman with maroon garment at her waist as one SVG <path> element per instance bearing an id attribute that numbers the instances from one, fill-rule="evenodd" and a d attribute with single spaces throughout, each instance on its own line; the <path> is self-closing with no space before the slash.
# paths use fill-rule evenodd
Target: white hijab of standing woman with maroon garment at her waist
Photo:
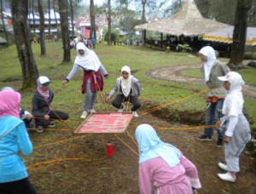
<path id="1" fill-rule="evenodd" d="M 86 48 L 84 43 L 81 42 L 77 43 L 76 48 L 78 55 L 76 56 L 74 63 L 78 64 L 79 66 L 87 70 L 98 71 L 100 69 L 102 63 L 98 59 L 94 51 L 90 50 L 89 48 Z M 84 50 L 84 54 L 79 54 L 79 50 Z"/>

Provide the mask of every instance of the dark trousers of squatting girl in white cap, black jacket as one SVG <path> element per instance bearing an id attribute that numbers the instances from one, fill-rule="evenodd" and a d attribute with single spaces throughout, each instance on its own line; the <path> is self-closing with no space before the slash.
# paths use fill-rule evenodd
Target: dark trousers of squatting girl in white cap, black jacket
<path id="1" fill-rule="evenodd" d="M 36 127 L 41 126 L 43 128 L 48 128 L 48 126 L 50 124 L 50 120 L 55 120 L 55 119 L 67 120 L 67 118 L 68 118 L 68 114 L 65 111 L 53 110 L 53 111 L 49 111 L 48 115 L 49 115 L 49 121 L 36 118 L 35 119 Z"/>

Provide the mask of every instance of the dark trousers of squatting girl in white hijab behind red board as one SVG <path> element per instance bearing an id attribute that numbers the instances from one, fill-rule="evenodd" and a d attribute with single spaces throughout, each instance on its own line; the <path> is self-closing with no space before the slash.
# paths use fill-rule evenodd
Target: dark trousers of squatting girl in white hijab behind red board
<path id="1" fill-rule="evenodd" d="M 131 111 L 137 111 L 137 109 L 142 106 L 140 103 L 140 100 L 137 98 L 136 95 L 134 96 L 129 95 L 128 97 L 125 97 L 125 95 L 123 94 L 116 95 L 112 102 L 112 105 L 116 108 L 121 109 L 123 108 L 122 103 L 126 101 L 131 102 L 131 104 L 133 105 L 131 107 Z"/>

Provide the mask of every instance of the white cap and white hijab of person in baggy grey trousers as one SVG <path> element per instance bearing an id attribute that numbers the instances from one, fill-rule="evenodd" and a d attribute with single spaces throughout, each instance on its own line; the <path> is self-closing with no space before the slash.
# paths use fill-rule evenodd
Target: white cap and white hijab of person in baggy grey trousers
<path id="1" fill-rule="evenodd" d="M 242 86 L 245 84 L 241 75 L 235 71 L 230 71 L 224 77 L 218 77 L 221 81 L 230 83 L 229 94 L 224 100 L 223 114 L 226 116 L 238 116 L 243 108 Z"/>

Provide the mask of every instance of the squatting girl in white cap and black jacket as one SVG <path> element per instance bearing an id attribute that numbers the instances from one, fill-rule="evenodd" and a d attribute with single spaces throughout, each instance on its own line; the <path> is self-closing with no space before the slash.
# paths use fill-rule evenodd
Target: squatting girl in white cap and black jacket
<path id="1" fill-rule="evenodd" d="M 55 127 L 52 119 L 67 120 L 68 114 L 64 111 L 50 109 L 49 105 L 54 98 L 54 93 L 49 88 L 49 83 L 51 83 L 49 78 L 40 76 L 37 83 L 38 88 L 32 98 L 32 115 L 35 117 L 38 133 L 42 133 L 43 128 Z"/>

